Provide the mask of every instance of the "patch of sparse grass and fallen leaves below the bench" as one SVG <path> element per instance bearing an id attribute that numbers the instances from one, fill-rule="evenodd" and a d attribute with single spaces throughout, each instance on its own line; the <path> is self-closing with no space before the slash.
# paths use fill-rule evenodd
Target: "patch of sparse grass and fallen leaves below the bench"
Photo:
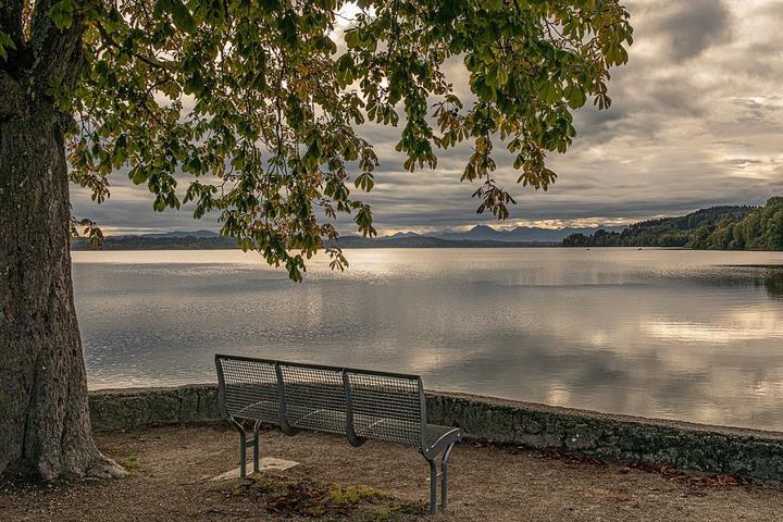
<path id="1" fill-rule="evenodd" d="M 426 513 L 423 502 L 405 502 L 366 486 L 343 487 L 310 478 L 253 473 L 235 483 L 226 498 L 247 497 L 268 513 L 284 519 L 349 518 L 357 521 L 403 521 Z"/>

